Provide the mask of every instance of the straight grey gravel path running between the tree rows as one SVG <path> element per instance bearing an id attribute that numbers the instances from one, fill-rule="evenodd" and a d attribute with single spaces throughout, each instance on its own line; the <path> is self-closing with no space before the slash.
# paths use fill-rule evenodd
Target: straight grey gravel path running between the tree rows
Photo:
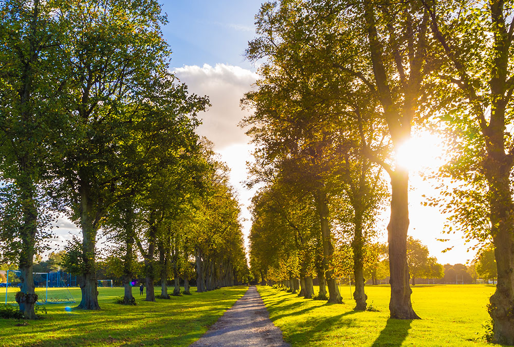
<path id="1" fill-rule="evenodd" d="M 286 347 L 289 344 L 284 342 L 282 332 L 269 319 L 257 288 L 251 286 L 207 333 L 190 345 L 200 346 Z"/>

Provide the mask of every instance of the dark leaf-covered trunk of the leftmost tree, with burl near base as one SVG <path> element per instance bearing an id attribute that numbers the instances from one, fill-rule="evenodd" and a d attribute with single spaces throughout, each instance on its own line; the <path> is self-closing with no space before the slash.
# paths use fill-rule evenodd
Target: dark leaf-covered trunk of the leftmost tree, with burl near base
<path id="1" fill-rule="evenodd" d="M 35 236 L 38 232 L 38 209 L 34 200 L 34 185 L 30 177 L 21 175 L 16 180 L 20 190 L 20 200 L 22 205 L 22 225 L 20 230 L 21 249 L 19 266 L 21 272 L 20 292 L 23 293 L 16 302 L 20 306 L 20 311 L 25 319 L 36 319 L 34 304 L 38 301 L 38 296 L 34 293 L 34 279 L 32 275 Z"/>

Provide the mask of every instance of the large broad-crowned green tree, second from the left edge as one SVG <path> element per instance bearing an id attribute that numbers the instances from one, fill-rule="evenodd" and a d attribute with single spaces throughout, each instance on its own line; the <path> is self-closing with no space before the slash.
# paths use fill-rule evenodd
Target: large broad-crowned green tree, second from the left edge
<path id="1" fill-rule="evenodd" d="M 166 18 L 158 3 L 131 4 L 80 2 L 60 13 L 75 24 L 63 49 L 72 67 L 69 109 L 76 130 L 59 170 L 69 188 L 70 217 L 83 234 L 79 307 L 85 309 L 99 308 L 95 243 L 109 208 L 134 194 L 138 175 L 146 179 L 149 168 L 158 167 L 162 157 L 155 155 L 159 146 L 153 141 L 179 143 L 174 135 L 183 133 L 188 123 L 183 120 L 206 104 L 189 97 L 167 71 L 170 51 L 160 31 Z M 170 131 L 173 125 L 179 125 L 177 131 Z M 142 156 L 144 149 L 150 155 Z M 173 151 L 170 160 L 186 156 L 188 147 L 177 145 Z M 170 154 L 169 147 L 164 153 Z"/>

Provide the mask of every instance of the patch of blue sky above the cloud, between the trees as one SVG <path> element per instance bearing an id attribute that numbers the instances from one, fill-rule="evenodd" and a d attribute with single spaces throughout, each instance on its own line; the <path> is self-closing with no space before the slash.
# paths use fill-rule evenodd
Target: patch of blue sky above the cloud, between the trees
<path id="1" fill-rule="evenodd" d="M 243 54 L 255 36 L 260 0 L 168 0 L 164 38 L 173 50 L 171 66 L 223 63 L 254 70 Z"/>

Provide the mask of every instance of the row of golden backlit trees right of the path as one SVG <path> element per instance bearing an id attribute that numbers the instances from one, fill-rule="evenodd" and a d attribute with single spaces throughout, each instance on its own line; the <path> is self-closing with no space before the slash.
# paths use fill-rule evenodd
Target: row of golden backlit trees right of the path
<path id="1" fill-rule="evenodd" d="M 273 224 L 297 230 L 288 237 L 307 247 L 300 236 L 314 224 L 293 216 L 308 214 L 318 222 L 315 254 L 329 301 L 340 302 L 333 258 L 342 231 L 353 248 L 356 308 L 364 308 L 363 244 L 387 196 L 383 170 L 391 192 L 390 314 L 419 318 L 407 262 L 409 172 L 395 153 L 414 130 L 430 126 L 451 147 L 439 172 L 450 179 L 431 203 L 452 215 L 467 240 L 493 245 L 494 340 L 514 344 L 513 14 L 504 0 L 263 4 L 258 38 L 247 49 L 262 62 L 262 78 L 243 99 L 254 110 L 244 121 L 257 149 L 253 182 L 266 184 L 254 201 L 252 249 Z M 265 207 L 283 203 L 277 194 L 302 205 L 280 222 L 271 216 L 280 211 Z"/>

